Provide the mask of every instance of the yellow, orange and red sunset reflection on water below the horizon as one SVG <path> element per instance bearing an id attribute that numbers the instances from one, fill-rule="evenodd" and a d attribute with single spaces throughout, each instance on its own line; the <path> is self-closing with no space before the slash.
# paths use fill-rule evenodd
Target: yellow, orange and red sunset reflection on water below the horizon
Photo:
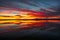
<path id="1" fill-rule="evenodd" d="M 59 23 L 60 20 L 1 20 L 0 28 L 30 28 L 42 27 L 46 22 Z"/>

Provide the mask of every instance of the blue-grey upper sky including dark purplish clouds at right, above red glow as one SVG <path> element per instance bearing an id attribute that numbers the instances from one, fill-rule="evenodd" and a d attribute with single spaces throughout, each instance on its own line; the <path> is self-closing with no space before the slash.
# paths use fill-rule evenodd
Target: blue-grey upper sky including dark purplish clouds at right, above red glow
<path id="1" fill-rule="evenodd" d="M 60 15 L 60 0 L 0 0 L 0 6 L 44 11 L 47 15 Z M 47 10 L 47 11 L 46 11 Z"/>

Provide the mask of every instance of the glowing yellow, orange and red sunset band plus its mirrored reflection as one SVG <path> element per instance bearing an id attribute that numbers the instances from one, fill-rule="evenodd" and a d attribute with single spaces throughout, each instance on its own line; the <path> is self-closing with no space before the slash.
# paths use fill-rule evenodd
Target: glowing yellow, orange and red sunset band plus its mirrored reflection
<path id="1" fill-rule="evenodd" d="M 2 10 L 0 11 L 0 27 L 10 28 L 8 26 L 18 25 L 18 28 L 43 26 L 46 22 L 60 22 L 57 19 L 60 16 L 46 17 L 44 12 L 34 12 L 31 10 Z M 42 20 L 37 20 L 42 19 Z M 7 24 L 7 25 L 6 25 Z M 3 26 L 4 25 L 4 26 Z"/>

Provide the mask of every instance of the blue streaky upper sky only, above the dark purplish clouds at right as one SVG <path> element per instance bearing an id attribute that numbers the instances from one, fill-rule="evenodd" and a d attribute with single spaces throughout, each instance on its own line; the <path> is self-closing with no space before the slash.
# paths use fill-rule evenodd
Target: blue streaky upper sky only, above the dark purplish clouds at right
<path id="1" fill-rule="evenodd" d="M 0 0 L 0 6 L 37 11 L 41 8 L 57 8 L 59 0 Z"/>

